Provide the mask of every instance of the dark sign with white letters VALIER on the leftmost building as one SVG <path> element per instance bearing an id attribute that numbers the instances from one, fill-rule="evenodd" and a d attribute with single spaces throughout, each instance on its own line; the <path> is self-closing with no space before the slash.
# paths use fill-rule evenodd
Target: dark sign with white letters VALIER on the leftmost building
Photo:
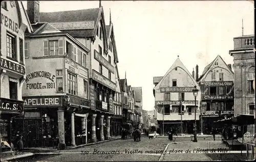
<path id="1" fill-rule="evenodd" d="M 21 75 L 25 75 L 25 66 L 16 64 L 3 58 L 1 58 L 1 68 L 5 68 L 8 71 L 15 72 Z"/>

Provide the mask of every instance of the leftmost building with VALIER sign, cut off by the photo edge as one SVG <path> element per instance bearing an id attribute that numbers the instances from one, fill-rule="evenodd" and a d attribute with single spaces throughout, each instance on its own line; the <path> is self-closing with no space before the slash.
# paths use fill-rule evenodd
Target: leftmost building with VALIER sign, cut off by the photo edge
<path id="1" fill-rule="evenodd" d="M 23 3 L 1 1 L 1 145 L 3 142 L 17 146 L 13 140 L 18 131 L 23 132 L 23 123 L 13 119 L 24 116 L 22 87 L 28 74 L 24 56 L 26 30 L 33 32 Z"/>

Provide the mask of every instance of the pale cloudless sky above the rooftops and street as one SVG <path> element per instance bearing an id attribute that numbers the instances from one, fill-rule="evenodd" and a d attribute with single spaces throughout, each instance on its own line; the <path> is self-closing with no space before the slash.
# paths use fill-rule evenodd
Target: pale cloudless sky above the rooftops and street
<path id="1" fill-rule="evenodd" d="M 23 1 L 25 9 L 27 2 Z M 153 77 L 164 76 L 179 55 L 191 73 L 228 54 L 233 37 L 254 34 L 249 1 L 101 1 L 105 24 L 114 25 L 118 71 L 132 87 L 142 87 L 143 109 L 153 110 Z M 99 1 L 40 1 L 40 12 L 99 7 Z"/>

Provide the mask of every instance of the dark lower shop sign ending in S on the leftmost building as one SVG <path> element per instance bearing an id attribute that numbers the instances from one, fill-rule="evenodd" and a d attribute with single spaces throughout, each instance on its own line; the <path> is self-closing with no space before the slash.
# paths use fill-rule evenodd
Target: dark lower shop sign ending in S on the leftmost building
<path id="1" fill-rule="evenodd" d="M 15 100 L 1 98 L 1 103 L 0 103 L 1 111 L 22 112 L 23 106 L 24 106 L 23 101 L 15 101 Z"/>

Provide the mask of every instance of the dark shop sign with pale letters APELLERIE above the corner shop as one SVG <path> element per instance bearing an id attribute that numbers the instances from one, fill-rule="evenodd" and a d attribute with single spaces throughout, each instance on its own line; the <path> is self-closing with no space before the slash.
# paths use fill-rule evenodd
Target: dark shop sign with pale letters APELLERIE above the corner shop
<path id="1" fill-rule="evenodd" d="M 36 96 L 36 97 L 23 97 L 26 107 L 47 107 L 47 106 L 62 106 L 61 96 Z"/>

